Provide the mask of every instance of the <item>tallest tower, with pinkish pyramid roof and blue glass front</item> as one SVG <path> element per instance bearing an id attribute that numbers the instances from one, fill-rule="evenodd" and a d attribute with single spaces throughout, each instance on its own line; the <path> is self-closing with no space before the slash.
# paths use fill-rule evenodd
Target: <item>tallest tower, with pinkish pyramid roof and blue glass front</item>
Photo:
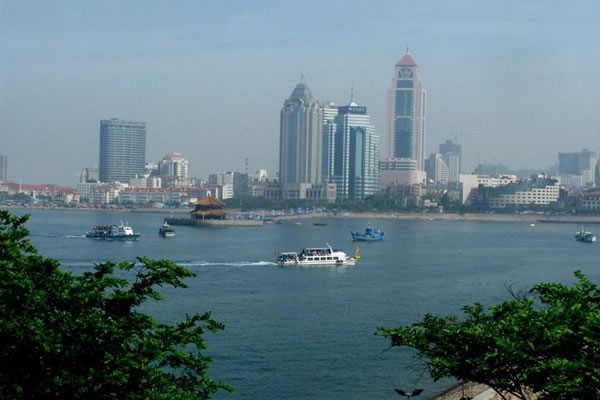
<path id="1" fill-rule="evenodd" d="M 388 92 L 388 159 L 410 158 L 423 170 L 425 159 L 425 89 L 408 50 L 394 68 Z"/>

